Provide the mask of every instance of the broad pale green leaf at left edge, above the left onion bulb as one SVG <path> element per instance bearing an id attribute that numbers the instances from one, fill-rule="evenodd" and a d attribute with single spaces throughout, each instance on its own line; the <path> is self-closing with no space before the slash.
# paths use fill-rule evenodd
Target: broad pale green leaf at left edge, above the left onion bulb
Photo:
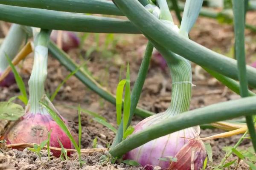
<path id="1" fill-rule="evenodd" d="M 0 102 L 0 119 L 17 120 L 25 114 L 21 105 L 12 102 Z"/>

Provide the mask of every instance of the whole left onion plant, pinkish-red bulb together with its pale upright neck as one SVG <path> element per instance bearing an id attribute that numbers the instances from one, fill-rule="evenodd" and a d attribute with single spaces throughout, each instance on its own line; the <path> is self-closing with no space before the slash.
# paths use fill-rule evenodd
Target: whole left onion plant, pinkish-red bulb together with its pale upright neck
<path id="1" fill-rule="evenodd" d="M 33 29 L 33 28 L 32 28 Z M 36 29 L 33 29 L 36 30 Z M 35 31 L 36 33 L 36 31 Z M 49 115 L 46 108 L 39 102 L 42 101 L 56 109 L 46 97 L 44 83 L 47 77 L 47 58 L 49 36 L 51 31 L 41 29 L 35 35 L 35 57 L 32 73 L 29 79 L 29 102 L 26 106 L 25 115 L 6 133 L 5 139 L 8 144 L 37 143 L 40 144 L 48 139 L 48 132 L 52 129 L 50 146 L 61 147 L 58 139 L 65 148 L 73 148 L 70 139 Z M 58 113 L 58 116 L 66 123 L 67 121 Z M 75 133 L 73 133 L 75 135 Z M 52 151 L 54 156 L 59 156 L 59 151 Z"/>

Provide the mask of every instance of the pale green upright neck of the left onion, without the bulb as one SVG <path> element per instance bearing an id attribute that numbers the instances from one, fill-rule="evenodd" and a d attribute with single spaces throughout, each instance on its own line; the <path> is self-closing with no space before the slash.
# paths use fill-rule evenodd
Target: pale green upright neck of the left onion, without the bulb
<path id="1" fill-rule="evenodd" d="M 47 77 L 49 35 L 51 31 L 41 30 L 35 37 L 35 57 L 29 79 L 29 113 L 48 114 L 39 103 L 45 94 L 44 82 Z"/>

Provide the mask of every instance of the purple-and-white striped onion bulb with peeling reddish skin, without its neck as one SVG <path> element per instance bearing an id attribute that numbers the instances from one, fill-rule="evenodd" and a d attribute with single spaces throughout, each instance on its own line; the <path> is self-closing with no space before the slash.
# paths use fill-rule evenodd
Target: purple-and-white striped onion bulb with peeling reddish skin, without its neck
<path id="1" fill-rule="evenodd" d="M 166 118 L 167 115 L 164 113 L 150 116 L 135 126 L 134 133 L 138 133 Z M 194 170 L 200 170 L 206 158 L 206 150 L 203 142 L 193 140 L 199 138 L 199 133 L 200 127 L 197 126 L 162 136 L 129 151 L 123 159 L 137 161 L 146 170 L 153 170 L 155 166 L 159 166 L 163 170 L 190 170 L 192 165 Z M 160 160 L 169 156 L 176 157 L 177 162 Z"/>

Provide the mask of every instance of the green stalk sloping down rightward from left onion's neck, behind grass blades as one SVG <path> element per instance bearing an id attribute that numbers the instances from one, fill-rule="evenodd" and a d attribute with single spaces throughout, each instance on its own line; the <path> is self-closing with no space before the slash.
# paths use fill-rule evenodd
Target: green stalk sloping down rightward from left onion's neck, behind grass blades
<path id="1" fill-rule="evenodd" d="M 78 67 L 78 65 L 73 62 L 70 57 L 62 50 L 60 50 L 53 42 L 49 43 L 49 52 L 52 54 L 52 56 L 65 67 L 69 71 L 74 71 Z M 82 71 L 81 69 L 75 73 L 75 76 L 82 82 L 84 85 L 86 85 L 88 88 L 90 88 L 95 93 L 99 94 L 102 98 L 106 99 L 108 102 L 111 102 L 113 105 L 116 105 L 116 97 L 105 90 L 99 83 L 97 83 L 92 77 L 90 77 L 89 74 L 87 74 L 85 71 Z M 150 111 L 146 111 L 144 109 L 141 109 L 137 107 L 135 109 L 135 114 L 141 117 L 148 117 L 151 115 L 154 115 L 154 113 Z"/>

